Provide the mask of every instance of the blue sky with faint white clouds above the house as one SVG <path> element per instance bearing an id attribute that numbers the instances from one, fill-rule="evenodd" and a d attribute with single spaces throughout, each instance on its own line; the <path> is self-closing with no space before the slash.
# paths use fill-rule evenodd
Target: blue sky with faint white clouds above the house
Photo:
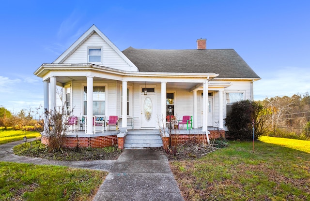
<path id="1" fill-rule="evenodd" d="M 262 78 L 254 99 L 310 91 L 309 0 L 7 0 L 0 12 L 0 105 L 43 105 L 33 72 L 95 24 L 120 50 L 233 48 Z"/>

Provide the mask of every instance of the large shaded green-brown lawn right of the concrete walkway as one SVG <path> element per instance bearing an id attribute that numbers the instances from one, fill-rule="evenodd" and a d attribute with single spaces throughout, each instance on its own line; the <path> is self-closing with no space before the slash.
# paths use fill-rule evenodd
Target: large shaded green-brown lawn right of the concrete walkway
<path id="1" fill-rule="evenodd" d="M 252 142 L 230 142 L 203 158 L 170 163 L 186 201 L 305 201 L 310 154 L 302 150 L 258 141 L 253 152 Z"/>

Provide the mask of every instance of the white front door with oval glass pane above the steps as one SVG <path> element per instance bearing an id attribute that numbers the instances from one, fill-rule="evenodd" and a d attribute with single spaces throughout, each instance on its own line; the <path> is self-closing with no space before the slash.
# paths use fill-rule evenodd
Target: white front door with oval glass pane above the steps
<path id="1" fill-rule="evenodd" d="M 141 129 L 155 129 L 155 95 L 141 95 Z"/>

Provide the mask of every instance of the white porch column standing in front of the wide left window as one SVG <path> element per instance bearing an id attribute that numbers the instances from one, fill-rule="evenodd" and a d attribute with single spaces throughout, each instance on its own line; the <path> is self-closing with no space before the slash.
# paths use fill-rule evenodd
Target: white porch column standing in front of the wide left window
<path id="1" fill-rule="evenodd" d="M 87 76 L 87 128 L 86 134 L 93 134 L 93 76 Z"/>

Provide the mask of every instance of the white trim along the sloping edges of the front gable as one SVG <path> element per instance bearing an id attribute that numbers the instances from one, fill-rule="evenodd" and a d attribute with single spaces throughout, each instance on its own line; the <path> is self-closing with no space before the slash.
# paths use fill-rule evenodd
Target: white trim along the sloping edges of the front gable
<path id="1" fill-rule="evenodd" d="M 97 33 L 108 45 L 124 59 L 124 61 L 133 69 L 137 70 L 135 64 L 133 64 L 124 54 L 104 35 L 95 25 L 89 28 L 78 40 L 73 43 L 61 56 L 59 56 L 53 63 L 62 63 L 66 58 L 68 58 L 72 53 L 78 49 L 87 39 L 89 39 L 94 33 Z"/>

